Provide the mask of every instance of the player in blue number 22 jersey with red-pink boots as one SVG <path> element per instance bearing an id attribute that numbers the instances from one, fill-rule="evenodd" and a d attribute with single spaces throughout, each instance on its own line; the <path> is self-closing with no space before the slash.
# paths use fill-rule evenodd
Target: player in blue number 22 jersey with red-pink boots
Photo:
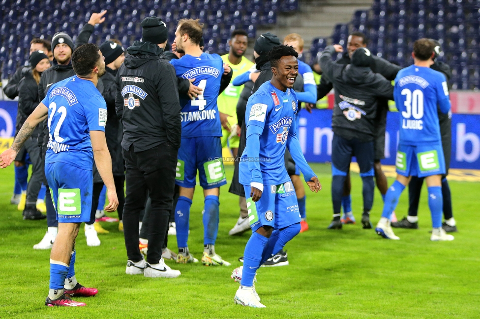
<path id="1" fill-rule="evenodd" d="M 72 54 L 72 66 L 76 76 L 51 86 L 11 148 L 0 156 L 0 167 L 8 166 L 35 126 L 48 118 L 45 175 L 59 220 L 59 233 L 50 253 L 50 291 L 45 301 L 51 307 L 85 306 L 70 296 L 88 297 L 98 292 L 80 285 L 74 269 L 75 238 L 80 224 L 90 221 L 93 160 L 107 186 L 110 203 L 105 211 L 114 212 L 119 204 L 105 141 L 107 109 L 95 87 L 105 74 L 102 53 L 94 44 L 80 46 Z"/>

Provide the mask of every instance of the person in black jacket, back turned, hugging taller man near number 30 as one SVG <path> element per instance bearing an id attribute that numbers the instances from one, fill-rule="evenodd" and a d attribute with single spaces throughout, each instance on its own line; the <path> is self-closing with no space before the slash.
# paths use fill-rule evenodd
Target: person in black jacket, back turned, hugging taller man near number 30
<path id="1" fill-rule="evenodd" d="M 319 58 L 320 67 L 333 83 L 335 105 L 332 114 L 332 224 L 340 223 L 340 207 L 344 182 L 352 156 L 357 158 L 363 182 L 363 228 L 372 228 L 369 214 L 373 205 L 373 160 L 376 134 L 377 99 L 393 100 L 393 86 L 380 74 L 374 74 L 369 65 L 372 54 L 366 48 L 352 54 L 352 64 L 341 65 L 331 55 L 343 52 L 340 45 L 328 46 Z M 331 226 L 331 225 L 330 225 Z M 329 228 L 336 228 L 330 227 Z"/>

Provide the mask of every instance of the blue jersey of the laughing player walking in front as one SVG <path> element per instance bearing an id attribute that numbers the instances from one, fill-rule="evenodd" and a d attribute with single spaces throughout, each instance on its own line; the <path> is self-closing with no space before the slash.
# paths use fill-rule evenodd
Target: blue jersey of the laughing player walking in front
<path id="1" fill-rule="evenodd" d="M 297 110 L 295 91 L 280 91 L 270 81 L 263 83 L 248 99 L 245 111 L 247 134 L 249 126 L 260 127 L 263 133 L 260 135 L 259 159 L 250 159 L 246 148 L 242 153 L 239 163 L 240 184 L 250 186 L 252 174 L 248 168 L 249 160 L 260 162 L 264 185 L 280 185 L 290 181 L 284 156 L 288 135 L 294 133 L 290 130 Z"/>

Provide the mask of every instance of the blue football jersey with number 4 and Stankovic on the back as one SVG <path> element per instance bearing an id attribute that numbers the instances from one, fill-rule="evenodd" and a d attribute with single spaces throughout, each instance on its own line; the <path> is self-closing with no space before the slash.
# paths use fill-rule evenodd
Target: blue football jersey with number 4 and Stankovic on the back
<path id="1" fill-rule="evenodd" d="M 218 54 L 202 53 L 199 57 L 185 54 L 170 61 L 177 77 L 193 79 L 203 88 L 195 100 L 180 101 L 181 137 L 222 136 L 217 98 L 224 72 L 223 60 Z M 186 103 L 186 104 L 185 104 Z"/>

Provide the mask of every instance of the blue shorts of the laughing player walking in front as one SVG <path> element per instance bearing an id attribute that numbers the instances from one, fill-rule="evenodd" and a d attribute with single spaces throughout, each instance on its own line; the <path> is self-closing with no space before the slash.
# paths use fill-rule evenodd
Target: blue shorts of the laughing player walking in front
<path id="1" fill-rule="evenodd" d="M 250 196 L 250 186 L 243 186 L 245 195 Z M 262 226 L 282 229 L 300 223 L 297 193 L 291 181 L 280 185 L 265 185 L 262 197 L 253 202 L 247 198 L 248 218 L 253 232 Z"/>

